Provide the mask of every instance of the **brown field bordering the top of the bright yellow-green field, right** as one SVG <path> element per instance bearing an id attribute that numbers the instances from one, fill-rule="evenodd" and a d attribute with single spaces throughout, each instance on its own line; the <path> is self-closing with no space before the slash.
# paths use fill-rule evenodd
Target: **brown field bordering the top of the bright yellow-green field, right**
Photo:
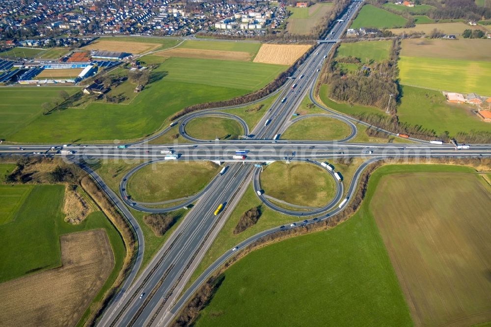
<path id="1" fill-rule="evenodd" d="M 491 42 L 482 39 L 402 41 L 402 56 L 491 61 Z"/>

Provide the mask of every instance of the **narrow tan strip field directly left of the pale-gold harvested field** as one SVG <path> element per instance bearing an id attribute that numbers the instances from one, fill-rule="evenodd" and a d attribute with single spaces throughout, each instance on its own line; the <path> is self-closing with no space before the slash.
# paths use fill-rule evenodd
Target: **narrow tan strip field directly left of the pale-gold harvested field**
<path id="1" fill-rule="evenodd" d="M 250 61 L 252 54 L 238 51 L 204 50 L 190 48 L 174 48 L 156 52 L 155 55 L 164 57 L 184 57 L 184 58 L 204 58 L 204 59 L 223 59 Z"/>

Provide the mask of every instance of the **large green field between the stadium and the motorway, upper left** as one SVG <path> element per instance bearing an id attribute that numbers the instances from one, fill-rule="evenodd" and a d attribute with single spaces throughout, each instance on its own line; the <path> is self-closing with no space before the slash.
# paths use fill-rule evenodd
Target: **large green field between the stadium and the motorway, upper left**
<path id="1" fill-rule="evenodd" d="M 42 116 L 39 103 L 44 100 L 39 98 L 46 97 L 42 91 L 49 88 L 26 88 L 29 93 L 40 92 L 37 97 L 32 97 L 32 104 L 25 111 L 31 116 L 38 114 L 38 117 L 19 127 L 5 124 L 8 130 L 2 137 L 22 142 L 135 139 L 157 131 L 167 117 L 180 109 L 249 93 L 263 87 L 286 69 L 282 65 L 212 59 L 174 57 L 165 60 L 146 56 L 142 60 L 163 63 L 153 72 L 156 81 L 147 85 L 131 104 L 94 102 L 83 110 L 70 108 Z M 12 97 L 12 90 L 0 92 Z M 9 106 L 0 108 L 2 113 L 21 119 L 21 115 L 12 112 Z"/>

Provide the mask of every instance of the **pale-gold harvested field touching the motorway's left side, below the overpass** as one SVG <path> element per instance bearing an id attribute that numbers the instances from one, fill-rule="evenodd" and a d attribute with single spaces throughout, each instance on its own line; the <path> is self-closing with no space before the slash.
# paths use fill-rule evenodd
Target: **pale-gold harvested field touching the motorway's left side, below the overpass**
<path id="1" fill-rule="evenodd" d="M 310 47 L 310 45 L 263 44 L 253 61 L 291 65 Z"/>

